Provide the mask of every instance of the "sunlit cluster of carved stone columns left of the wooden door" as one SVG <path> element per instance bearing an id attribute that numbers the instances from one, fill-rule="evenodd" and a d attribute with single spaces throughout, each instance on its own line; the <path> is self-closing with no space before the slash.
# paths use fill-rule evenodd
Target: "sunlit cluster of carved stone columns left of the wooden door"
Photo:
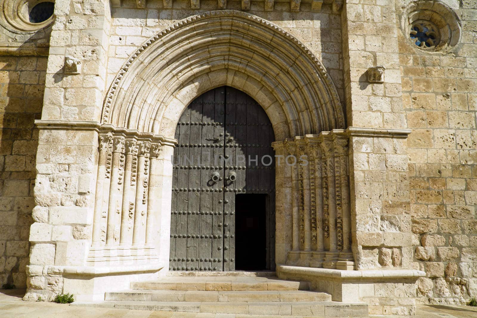
<path id="1" fill-rule="evenodd" d="M 93 243 L 88 262 L 157 258 L 154 212 L 149 204 L 164 141 L 124 133 L 100 133 Z M 104 233 L 105 232 L 105 233 Z"/>

